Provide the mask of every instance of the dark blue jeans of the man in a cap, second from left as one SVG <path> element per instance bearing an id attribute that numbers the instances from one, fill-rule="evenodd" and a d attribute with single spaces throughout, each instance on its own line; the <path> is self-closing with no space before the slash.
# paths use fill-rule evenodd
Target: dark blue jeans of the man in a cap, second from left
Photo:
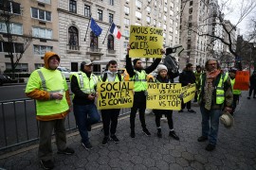
<path id="1" fill-rule="evenodd" d="M 95 104 L 74 105 L 74 114 L 82 137 L 82 143 L 89 142 L 87 127 L 101 121 L 100 114 Z"/>

